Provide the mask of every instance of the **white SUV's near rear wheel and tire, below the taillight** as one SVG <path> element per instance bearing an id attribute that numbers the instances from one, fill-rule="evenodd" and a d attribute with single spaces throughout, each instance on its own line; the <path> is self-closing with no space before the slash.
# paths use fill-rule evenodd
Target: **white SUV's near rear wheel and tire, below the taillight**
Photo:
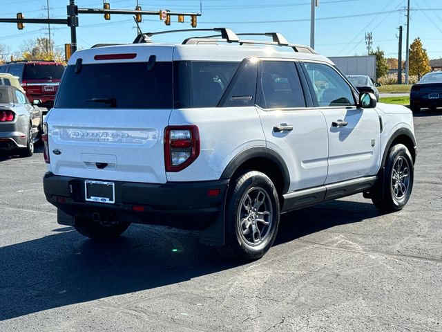
<path id="1" fill-rule="evenodd" d="M 225 246 L 218 251 L 242 261 L 260 259 L 278 232 L 278 193 L 270 178 L 261 172 L 247 172 L 231 183 L 226 202 Z"/>

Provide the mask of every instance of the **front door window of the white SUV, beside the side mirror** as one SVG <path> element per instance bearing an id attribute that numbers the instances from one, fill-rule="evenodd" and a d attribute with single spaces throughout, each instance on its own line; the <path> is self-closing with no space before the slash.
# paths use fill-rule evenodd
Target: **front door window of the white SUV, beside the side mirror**
<path id="1" fill-rule="evenodd" d="M 326 64 L 303 64 L 307 68 L 320 107 L 355 105 L 352 89 Z"/>

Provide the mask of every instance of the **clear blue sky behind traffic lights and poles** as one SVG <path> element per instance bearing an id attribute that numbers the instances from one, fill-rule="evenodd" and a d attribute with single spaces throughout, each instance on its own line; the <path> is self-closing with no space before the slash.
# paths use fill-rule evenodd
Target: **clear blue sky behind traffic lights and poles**
<path id="1" fill-rule="evenodd" d="M 109 0 L 111 8 L 135 8 L 136 0 Z M 202 17 L 198 28 L 227 26 L 237 33 L 279 32 L 296 44 L 309 44 L 310 0 L 202 0 Z M 102 8 L 102 0 L 77 0 L 81 8 Z M 169 9 L 199 12 L 199 0 L 139 0 L 143 10 Z M 50 16 L 66 17 L 68 0 L 49 0 Z M 364 55 L 365 33 L 373 35 L 373 46 L 379 46 L 387 57 L 397 57 L 398 26 L 404 27 L 407 0 L 320 0 L 316 8 L 316 50 L 327 56 Z M 44 17 L 46 0 L 0 0 L 0 17 L 15 17 L 23 12 L 26 18 Z M 442 57 L 442 0 L 411 0 L 410 43 L 421 37 L 430 59 Z M 128 43 L 136 36 L 133 19 L 127 15 L 112 15 L 105 21 L 102 15 L 81 15 L 77 42 L 81 48 L 98 43 Z M 180 24 L 176 18 L 165 26 L 156 16 L 144 17 L 144 31 L 190 28 L 189 18 Z M 0 24 L 0 44 L 12 53 L 20 50 L 29 39 L 47 35 L 45 26 L 27 24 L 17 30 L 15 24 Z M 70 42 L 70 30 L 51 26 L 55 45 Z M 181 35 L 164 35 L 158 42 L 181 42 Z M 404 55 L 405 57 L 405 55 Z"/>

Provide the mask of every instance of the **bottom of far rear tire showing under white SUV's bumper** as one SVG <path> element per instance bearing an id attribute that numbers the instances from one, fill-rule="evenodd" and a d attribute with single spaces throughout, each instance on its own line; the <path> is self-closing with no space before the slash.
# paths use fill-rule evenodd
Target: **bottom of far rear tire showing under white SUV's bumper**
<path id="1" fill-rule="evenodd" d="M 115 223 L 113 225 L 102 225 L 92 219 L 76 218 L 74 228 L 81 235 L 90 239 L 109 240 L 119 237 L 131 223 Z"/>

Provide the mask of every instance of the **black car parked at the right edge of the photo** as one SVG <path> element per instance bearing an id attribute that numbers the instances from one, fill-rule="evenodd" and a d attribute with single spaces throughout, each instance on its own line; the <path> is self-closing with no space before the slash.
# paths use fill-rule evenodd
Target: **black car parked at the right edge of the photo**
<path id="1" fill-rule="evenodd" d="M 419 112 L 427 107 L 434 111 L 442 107 L 442 72 L 425 74 L 421 80 L 412 86 L 410 93 L 410 109 Z"/>

